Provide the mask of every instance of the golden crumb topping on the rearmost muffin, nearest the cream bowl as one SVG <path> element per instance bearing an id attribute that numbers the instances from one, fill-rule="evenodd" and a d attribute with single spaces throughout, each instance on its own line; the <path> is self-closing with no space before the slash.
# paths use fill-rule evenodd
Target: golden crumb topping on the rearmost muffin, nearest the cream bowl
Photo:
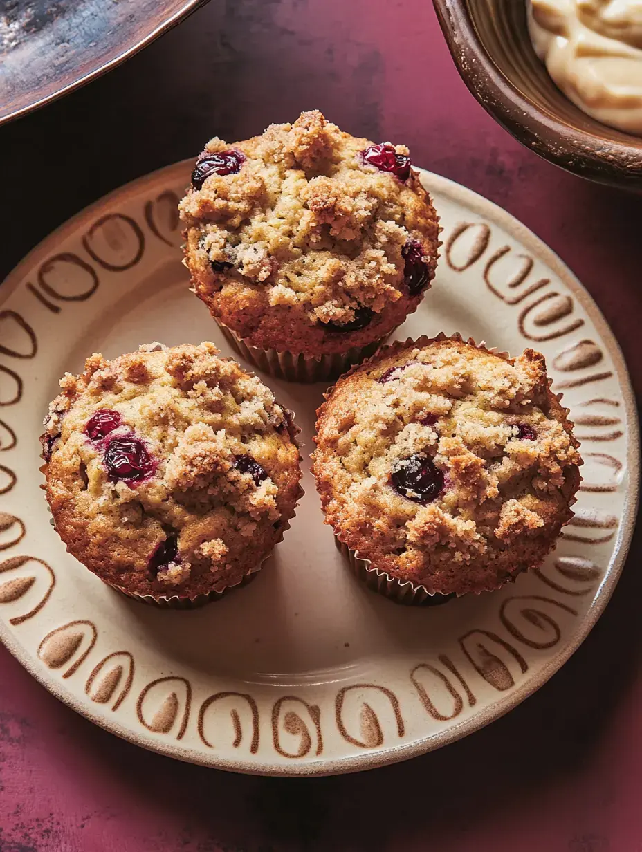
<path id="1" fill-rule="evenodd" d="M 321 112 L 234 143 L 245 155 L 237 173 L 212 174 L 191 187 L 180 212 L 186 262 L 197 294 L 244 337 L 258 308 L 281 306 L 308 327 L 349 324 L 359 308 L 380 314 L 409 294 L 402 250 L 420 246 L 432 279 L 438 225 L 430 197 L 412 172 L 402 181 L 367 164 L 372 143 L 343 133 Z M 206 152 L 228 149 L 214 138 Z M 399 154 L 408 148 L 398 145 Z M 408 308 L 409 310 L 410 308 Z M 257 324 L 255 321 L 255 325 Z"/>

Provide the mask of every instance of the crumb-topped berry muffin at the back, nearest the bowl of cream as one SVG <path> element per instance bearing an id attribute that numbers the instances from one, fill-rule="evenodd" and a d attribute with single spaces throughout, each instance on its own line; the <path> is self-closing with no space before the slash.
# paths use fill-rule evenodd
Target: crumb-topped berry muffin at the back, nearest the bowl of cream
<path id="1" fill-rule="evenodd" d="M 179 204 L 194 292 L 261 369 L 321 380 L 414 311 L 439 226 L 408 148 L 321 112 L 228 145 L 214 138 Z"/>

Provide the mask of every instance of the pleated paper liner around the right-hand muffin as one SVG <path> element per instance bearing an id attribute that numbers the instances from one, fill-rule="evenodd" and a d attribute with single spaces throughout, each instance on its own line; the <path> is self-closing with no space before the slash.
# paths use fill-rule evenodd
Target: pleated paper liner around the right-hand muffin
<path id="1" fill-rule="evenodd" d="M 401 352 L 403 349 L 406 349 L 410 346 L 424 347 L 428 346 L 430 343 L 439 343 L 443 340 L 453 340 L 459 343 L 468 343 L 477 349 L 482 349 L 484 352 L 488 352 L 489 354 L 497 355 L 498 357 L 503 358 L 505 360 L 512 360 L 511 356 L 507 352 L 500 352 L 496 348 L 489 348 L 484 342 L 477 343 L 475 340 L 472 339 L 472 337 L 469 337 L 467 340 L 465 340 L 458 332 L 455 332 L 452 335 L 447 335 L 441 331 L 437 335 L 437 337 L 427 337 L 424 335 L 422 337 L 417 338 L 416 340 L 413 337 L 408 337 L 405 341 L 395 341 L 394 343 L 390 343 L 387 346 L 381 346 L 370 359 L 364 361 L 360 365 L 352 366 L 350 370 L 347 371 L 341 378 L 347 377 L 351 373 L 356 372 L 356 370 L 359 369 L 361 366 L 367 366 L 367 364 L 374 365 L 374 363 L 377 362 L 379 358 L 388 357 L 390 355 L 396 354 L 397 352 Z M 550 389 L 552 385 L 552 378 L 547 378 L 547 385 Z M 324 394 L 326 400 L 329 400 L 332 396 L 334 387 L 335 385 L 327 389 L 326 393 Z M 560 400 L 562 399 L 562 394 L 552 395 L 555 397 L 556 400 L 558 400 L 558 402 L 560 402 Z M 317 411 L 317 416 L 326 404 L 327 401 Z M 570 424 L 570 427 L 572 428 L 573 423 L 569 420 L 568 417 L 570 409 L 564 408 L 564 406 L 561 406 L 561 408 L 564 412 L 564 423 Z M 572 437 L 579 446 L 579 442 L 577 442 L 577 440 L 575 439 L 575 435 L 572 435 Z M 569 506 L 572 506 L 577 502 L 575 493 L 577 492 L 580 483 L 581 475 L 579 475 L 578 471 L 577 481 L 570 481 L 570 490 L 572 490 L 572 493 L 568 498 Z M 569 523 L 572 517 L 573 513 L 571 512 L 570 517 L 567 521 L 564 522 L 563 526 L 566 526 L 566 524 Z M 338 550 L 340 550 L 346 561 L 348 561 L 348 563 L 350 564 L 350 568 L 352 569 L 353 573 L 355 573 L 356 577 L 367 585 L 368 589 L 379 592 L 380 595 L 389 598 L 391 601 L 401 603 L 406 606 L 438 606 L 448 602 L 454 597 L 463 597 L 465 595 L 481 595 L 484 591 L 495 591 L 497 589 L 500 589 L 503 585 L 506 585 L 507 583 L 513 583 L 515 579 L 517 579 L 518 574 L 523 573 L 524 570 L 530 570 L 534 567 L 537 567 L 532 566 L 530 569 L 523 569 L 523 571 L 514 573 L 510 577 L 498 581 L 498 583 L 493 588 L 489 588 L 486 590 L 442 594 L 442 592 L 438 591 L 431 592 L 427 590 L 425 586 L 413 583 L 412 580 L 400 580 L 396 577 L 391 577 L 390 574 L 386 573 L 385 571 L 382 571 L 377 567 L 373 567 L 372 562 L 370 560 L 359 556 L 358 550 L 352 550 L 347 544 L 344 544 L 344 542 L 342 542 L 341 539 L 338 538 L 336 532 L 334 533 L 334 541 Z"/>

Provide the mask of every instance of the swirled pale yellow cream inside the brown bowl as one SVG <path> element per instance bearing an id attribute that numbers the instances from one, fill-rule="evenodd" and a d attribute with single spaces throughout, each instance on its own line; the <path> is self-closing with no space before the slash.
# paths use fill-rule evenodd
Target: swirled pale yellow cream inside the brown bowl
<path id="1" fill-rule="evenodd" d="M 529 0 L 529 30 L 571 101 L 642 135 L 642 0 Z"/>

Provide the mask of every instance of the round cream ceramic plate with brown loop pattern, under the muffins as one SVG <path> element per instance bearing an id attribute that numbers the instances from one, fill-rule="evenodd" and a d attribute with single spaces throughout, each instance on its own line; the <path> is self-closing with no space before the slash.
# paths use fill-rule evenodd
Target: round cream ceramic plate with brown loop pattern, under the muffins
<path id="1" fill-rule="evenodd" d="M 309 475 L 323 388 L 268 379 L 303 429 L 292 529 L 222 602 L 167 612 L 119 596 L 49 524 L 38 435 L 64 371 L 139 343 L 228 347 L 188 292 L 176 164 L 68 222 L 0 288 L 0 633 L 38 681 L 140 746 L 257 774 L 367 769 L 443 746 L 557 671 L 598 619 L 626 556 L 638 429 L 622 355 L 569 270 L 503 210 L 424 173 L 444 227 L 437 280 L 397 337 L 452 333 L 541 349 L 586 464 L 558 550 L 493 595 L 431 609 L 362 587 L 322 523 Z"/>

